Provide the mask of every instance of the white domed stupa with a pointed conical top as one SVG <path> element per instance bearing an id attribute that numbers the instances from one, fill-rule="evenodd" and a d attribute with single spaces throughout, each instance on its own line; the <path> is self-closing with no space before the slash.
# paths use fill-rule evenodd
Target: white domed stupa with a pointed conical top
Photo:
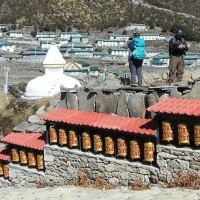
<path id="1" fill-rule="evenodd" d="M 56 44 L 51 44 L 43 61 L 45 75 L 37 77 L 28 83 L 23 98 L 51 97 L 60 92 L 61 86 L 64 88 L 80 87 L 81 83 L 78 80 L 64 75 L 65 65 L 66 61 Z"/>

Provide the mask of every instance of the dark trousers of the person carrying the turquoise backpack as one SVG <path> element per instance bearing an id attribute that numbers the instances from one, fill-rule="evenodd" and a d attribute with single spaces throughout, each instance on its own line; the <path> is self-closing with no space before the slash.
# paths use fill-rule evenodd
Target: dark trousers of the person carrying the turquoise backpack
<path id="1" fill-rule="evenodd" d="M 131 84 L 142 84 L 142 63 L 143 60 L 130 59 L 129 60 L 129 68 L 131 72 Z"/>

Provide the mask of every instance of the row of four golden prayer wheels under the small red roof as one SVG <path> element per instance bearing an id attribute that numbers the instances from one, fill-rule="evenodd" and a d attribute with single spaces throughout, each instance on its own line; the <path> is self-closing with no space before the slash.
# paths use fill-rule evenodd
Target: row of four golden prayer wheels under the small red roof
<path id="1" fill-rule="evenodd" d="M 25 149 L 11 148 L 11 158 L 13 163 L 35 167 L 38 171 L 44 170 L 43 153 L 26 151 Z"/>

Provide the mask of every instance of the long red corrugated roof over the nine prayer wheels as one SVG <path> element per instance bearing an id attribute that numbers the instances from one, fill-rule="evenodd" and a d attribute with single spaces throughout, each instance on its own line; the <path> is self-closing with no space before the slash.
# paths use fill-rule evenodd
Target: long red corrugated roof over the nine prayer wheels
<path id="1" fill-rule="evenodd" d="M 49 122 L 84 125 L 136 134 L 155 135 L 157 133 L 157 126 L 155 122 L 152 119 L 145 118 L 130 118 L 105 113 L 68 110 L 63 108 L 57 108 L 47 114 L 44 114 L 42 118 Z"/>

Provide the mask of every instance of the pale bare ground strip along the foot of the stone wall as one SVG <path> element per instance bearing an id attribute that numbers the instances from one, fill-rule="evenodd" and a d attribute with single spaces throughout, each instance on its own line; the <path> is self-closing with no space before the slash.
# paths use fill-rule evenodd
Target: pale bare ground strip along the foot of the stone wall
<path id="1" fill-rule="evenodd" d="M 158 188 L 135 191 L 127 188 L 100 190 L 77 186 L 53 188 L 3 188 L 0 189 L 2 200 L 199 200 L 199 190 L 180 188 Z"/>

